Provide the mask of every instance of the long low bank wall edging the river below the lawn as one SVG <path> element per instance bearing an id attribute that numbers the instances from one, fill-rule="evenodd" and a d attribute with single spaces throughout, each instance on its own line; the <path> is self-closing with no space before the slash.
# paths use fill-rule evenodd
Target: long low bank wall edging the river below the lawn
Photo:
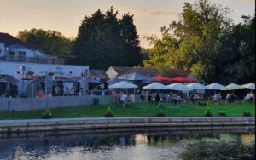
<path id="1" fill-rule="evenodd" d="M 70 129 L 254 126 L 255 117 L 84 117 L 0 120 L 0 133 Z"/>

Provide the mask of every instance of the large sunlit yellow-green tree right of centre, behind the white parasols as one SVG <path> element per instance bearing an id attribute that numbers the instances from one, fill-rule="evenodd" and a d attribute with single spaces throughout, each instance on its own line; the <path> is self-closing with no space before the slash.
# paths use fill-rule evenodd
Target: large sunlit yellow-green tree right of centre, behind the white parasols
<path id="1" fill-rule="evenodd" d="M 184 3 L 181 20 L 162 27 L 161 39 L 147 37 L 154 47 L 152 60 L 145 61 L 145 65 L 183 68 L 198 79 L 211 81 L 218 74 L 215 62 L 220 40 L 230 31 L 227 13 L 228 9 L 208 0 Z"/>

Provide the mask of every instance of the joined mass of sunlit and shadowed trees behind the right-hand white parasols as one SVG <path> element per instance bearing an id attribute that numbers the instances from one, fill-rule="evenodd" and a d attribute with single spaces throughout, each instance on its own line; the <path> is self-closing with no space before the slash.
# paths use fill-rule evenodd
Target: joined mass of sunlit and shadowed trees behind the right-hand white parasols
<path id="1" fill-rule="evenodd" d="M 199 0 L 184 3 L 180 20 L 160 29 L 146 67 L 183 68 L 207 82 L 242 83 L 254 74 L 254 18 L 233 25 L 229 9 Z M 253 66 L 253 67 L 252 67 Z"/>

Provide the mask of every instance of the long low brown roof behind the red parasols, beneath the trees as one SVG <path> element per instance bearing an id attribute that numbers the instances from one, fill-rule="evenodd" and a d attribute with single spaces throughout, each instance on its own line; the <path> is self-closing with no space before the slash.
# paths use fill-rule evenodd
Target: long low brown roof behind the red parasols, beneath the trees
<path id="1" fill-rule="evenodd" d="M 125 67 L 125 66 L 111 66 L 118 73 L 119 76 L 124 74 L 130 74 L 137 72 L 148 77 L 154 77 L 157 75 L 162 75 L 163 69 L 160 68 L 141 68 L 141 67 Z M 169 73 L 168 77 L 188 77 L 191 74 L 190 71 L 184 71 L 178 68 L 166 68 L 165 72 Z"/>

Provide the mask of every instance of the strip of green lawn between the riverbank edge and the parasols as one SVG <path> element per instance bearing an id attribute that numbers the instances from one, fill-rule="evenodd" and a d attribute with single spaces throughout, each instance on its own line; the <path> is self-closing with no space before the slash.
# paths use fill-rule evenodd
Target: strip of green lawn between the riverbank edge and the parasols
<path id="1" fill-rule="evenodd" d="M 121 106 L 110 106 L 114 117 L 155 117 L 160 111 L 154 104 L 138 103 L 136 106 L 122 108 Z M 104 113 L 108 106 L 77 106 L 60 109 L 51 109 L 54 118 L 57 117 L 104 117 Z M 251 115 L 255 116 L 255 106 L 252 104 L 207 104 L 207 106 L 195 106 L 193 104 L 186 104 L 184 106 L 176 107 L 172 104 L 164 105 L 163 111 L 166 116 L 170 117 L 204 117 L 207 108 L 218 116 L 218 111 L 226 111 L 227 116 L 242 116 L 243 111 L 249 111 Z M 41 118 L 42 110 L 37 111 L 2 111 L 0 112 L 0 119 L 34 119 Z"/>

